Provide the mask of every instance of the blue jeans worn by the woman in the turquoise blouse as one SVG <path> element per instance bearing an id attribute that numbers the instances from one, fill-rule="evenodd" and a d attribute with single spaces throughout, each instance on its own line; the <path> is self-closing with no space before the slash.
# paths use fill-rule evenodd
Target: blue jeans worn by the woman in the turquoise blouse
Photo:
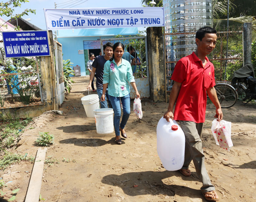
<path id="1" fill-rule="evenodd" d="M 121 123 L 120 123 L 120 118 L 121 118 L 120 99 L 121 99 L 121 102 L 123 105 L 123 117 L 122 117 Z M 110 95 L 110 101 L 111 101 L 112 107 L 114 109 L 115 133 L 116 133 L 116 136 L 120 136 L 119 124 L 120 124 L 120 128 L 124 129 L 124 126 L 127 123 L 129 116 L 130 116 L 130 112 L 131 112 L 130 94 L 125 95 L 124 97 L 113 97 Z"/>

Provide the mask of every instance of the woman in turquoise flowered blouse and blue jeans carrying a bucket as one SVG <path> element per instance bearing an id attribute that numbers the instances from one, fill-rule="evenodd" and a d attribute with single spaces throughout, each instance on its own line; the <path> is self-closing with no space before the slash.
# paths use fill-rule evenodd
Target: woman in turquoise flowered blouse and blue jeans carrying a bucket
<path id="1" fill-rule="evenodd" d="M 130 116 L 130 86 L 134 89 L 136 97 L 140 98 L 140 94 L 137 90 L 134 76 L 132 76 L 131 64 L 122 59 L 124 54 L 124 45 L 117 42 L 113 46 L 113 56 L 104 65 L 104 75 L 103 75 L 103 93 L 101 100 L 105 101 L 105 92 L 108 87 L 108 94 L 110 96 L 110 101 L 114 110 L 114 127 L 116 133 L 116 144 L 121 145 L 121 135 L 127 138 L 124 127 Z M 120 100 L 123 105 L 123 116 L 121 118 L 121 106 Z"/>

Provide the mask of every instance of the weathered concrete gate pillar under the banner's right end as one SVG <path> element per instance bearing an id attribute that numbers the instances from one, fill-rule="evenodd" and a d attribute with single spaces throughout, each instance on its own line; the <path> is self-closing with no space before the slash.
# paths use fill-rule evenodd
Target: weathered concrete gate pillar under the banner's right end
<path id="1" fill-rule="evenodd" d="M 148 27 L 147 42 L 150 99 L 162 102 L 165 101 L 163 28 Z"/>

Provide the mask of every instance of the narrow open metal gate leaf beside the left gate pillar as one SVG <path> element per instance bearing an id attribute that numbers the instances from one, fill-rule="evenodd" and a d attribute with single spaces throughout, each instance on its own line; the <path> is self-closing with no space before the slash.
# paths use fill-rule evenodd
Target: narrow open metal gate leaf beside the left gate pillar
<path id="1" fill-rule="evenodd" d="M 61 106 L 61 104 L 65 100 L 65 85 L 64 85 L 64 73 L 63 73 L 62 45 L 58 41 L 54 41 L 54 52 L 55 52 L 58 105 Z"/>

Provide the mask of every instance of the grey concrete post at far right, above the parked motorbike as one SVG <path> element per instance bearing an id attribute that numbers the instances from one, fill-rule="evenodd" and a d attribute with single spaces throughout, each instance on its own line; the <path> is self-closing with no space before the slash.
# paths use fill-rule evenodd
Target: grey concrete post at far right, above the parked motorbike
<path id="1" fill-rule="evenodd" d="M 252 23 L 244 23 L 243 27 L 243 65 L 252 63 Z"/>

